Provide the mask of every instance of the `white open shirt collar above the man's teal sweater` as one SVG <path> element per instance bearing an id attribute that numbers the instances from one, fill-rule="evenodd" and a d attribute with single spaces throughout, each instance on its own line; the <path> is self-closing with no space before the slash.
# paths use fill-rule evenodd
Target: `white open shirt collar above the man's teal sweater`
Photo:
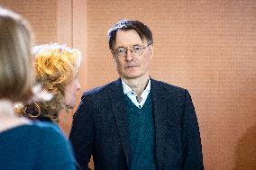
<path id="1" fill-rule="evenodd" d="M 142 101 L 139 103 L 137 101 L 137 94 L 132 90 L 132 88 L 127 85 L 122 79 L 122 85 L 123 85 L 123 94 L 127 94 L 127 96 L 131 99 L 131 101 L 139 108 L 142 109 L 143 104 L 146 102 L 148 95 L 151 92 L 151 78 L 149 77 L 148 85 L 146 88 L 142 91 L 141 97 Z"/>

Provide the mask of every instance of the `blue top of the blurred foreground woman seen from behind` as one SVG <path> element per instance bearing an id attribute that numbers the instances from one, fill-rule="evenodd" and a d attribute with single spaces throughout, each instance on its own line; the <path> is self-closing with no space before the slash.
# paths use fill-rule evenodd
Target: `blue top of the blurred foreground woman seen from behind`
<path id="1" fill-rule="evenodd" d="M 0 169 L 73 170 L 76 161 L 57 125 L 35 121 L 0 133 Z"/>

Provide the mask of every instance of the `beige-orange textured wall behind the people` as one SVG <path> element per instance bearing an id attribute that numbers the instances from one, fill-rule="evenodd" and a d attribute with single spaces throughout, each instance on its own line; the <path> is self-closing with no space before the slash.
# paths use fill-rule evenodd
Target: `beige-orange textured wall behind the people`
<path id="1" fill-rule="evenodd" d="M 82 92 L 115 79 L 106 31 L 140 20 L 155 40 L 151 76 L 185 87 L 207 170 L 256 169 L 256 1 L 0 0 L 32 24 L 36 43 L 80 49 Z M 72 114 L 72 112 L 71 112 Z M 60 126 L 69 134 L 71 114 Z"/>

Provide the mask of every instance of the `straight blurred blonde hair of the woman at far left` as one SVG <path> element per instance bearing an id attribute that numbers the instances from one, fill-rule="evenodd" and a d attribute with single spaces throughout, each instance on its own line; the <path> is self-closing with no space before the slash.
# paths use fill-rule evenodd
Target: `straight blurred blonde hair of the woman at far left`
<path id="1" fill-rule="evenodd" d="M 0 6 L 0 99 L 32 97 L 31 30 L 17 13 Z"/>

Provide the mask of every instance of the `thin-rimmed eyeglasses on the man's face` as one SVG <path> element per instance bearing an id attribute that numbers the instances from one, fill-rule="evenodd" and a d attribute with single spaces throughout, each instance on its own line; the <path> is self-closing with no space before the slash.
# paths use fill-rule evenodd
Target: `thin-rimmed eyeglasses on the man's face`
<path id="1" fill-rule="evenodd" d="M 144 52 L 144 49 L 146 49 L 150 45 L 151 45 L 151 43 L 145 47 L 140 46 L 140 45 L 133 45 L 132 47 L 130 47 L 129 50 L 131 50 L 131 52 L 133 53 L 134 56 L 139 57 Z M 114 49 L 114 56 L 116 58 L 125 58 L 127 56 L 127 51 L 128 51 L 128 48 L 124 48 L 124 47 Z"/>

